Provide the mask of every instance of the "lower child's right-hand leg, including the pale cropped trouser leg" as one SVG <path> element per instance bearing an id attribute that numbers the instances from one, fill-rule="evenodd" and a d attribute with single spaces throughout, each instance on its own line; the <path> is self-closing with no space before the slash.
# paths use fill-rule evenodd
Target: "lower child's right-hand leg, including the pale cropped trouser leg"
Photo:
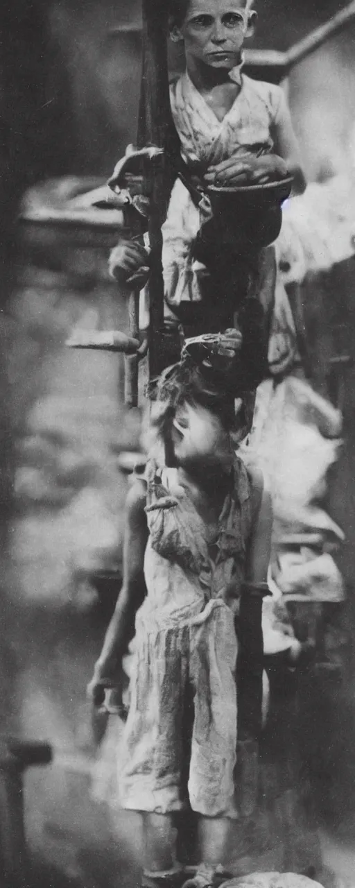
<path id="1" fill-rule="evenodd" d="M 237 639 L 227 607 L 215 607 L 206 622 L 193 627 L 190 652 L 194 718 L 188 790 L 199 813 L 201 860 L 190 888 L 208 888 L 217 884 L 225 865 L 230 818 L 237 813 Z"/>

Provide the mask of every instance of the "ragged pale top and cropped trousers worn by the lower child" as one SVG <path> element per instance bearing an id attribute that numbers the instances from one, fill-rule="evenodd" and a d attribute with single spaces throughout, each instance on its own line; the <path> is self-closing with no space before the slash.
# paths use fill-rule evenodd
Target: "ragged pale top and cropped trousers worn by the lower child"
<path id="1" fill-rule="evenodd" d="M 252 483 L 236 457 L 215 539 L 177 470 L 146 469 L 146 599 L 136 617 L 130 712 L 119 757 L 120 804 L 235 815 L 237 639 L 225 591 L 238 594 L 252 524 Z M 238 605 L 238 602 L 235 602 Z M 193 705 L 191 705 L 193 700 Z M 190 724 L 185 779 L 184 725 Z"/>

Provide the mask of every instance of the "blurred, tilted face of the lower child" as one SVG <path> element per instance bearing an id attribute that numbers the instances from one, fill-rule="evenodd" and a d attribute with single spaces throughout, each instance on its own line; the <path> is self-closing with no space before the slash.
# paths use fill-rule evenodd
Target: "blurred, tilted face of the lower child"
<path id="1" fill-rule="evenodd" d="M 177 408 L 171 437 L 177 464 L 182 467 L 227 468 L 232 464 L 229 433 L 216 414 L 198 404 Z"/>

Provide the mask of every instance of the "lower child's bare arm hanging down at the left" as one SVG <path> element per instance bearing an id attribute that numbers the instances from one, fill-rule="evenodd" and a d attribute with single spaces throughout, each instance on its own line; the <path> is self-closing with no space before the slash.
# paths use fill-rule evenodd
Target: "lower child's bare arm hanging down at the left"
<path id="1" fill-rule="evenodd" d="M 116 677 L 122 656 L 134 634 L 135 616 L 144 597 L 143 566 L 147 540 L 145 505 L 146 489 L 142 481 L 137 481 L 130 488 L 126 503 L 122 590 L 88 686 L 88 695 L 97 705 L 104 700 L 104 680 Z"/>

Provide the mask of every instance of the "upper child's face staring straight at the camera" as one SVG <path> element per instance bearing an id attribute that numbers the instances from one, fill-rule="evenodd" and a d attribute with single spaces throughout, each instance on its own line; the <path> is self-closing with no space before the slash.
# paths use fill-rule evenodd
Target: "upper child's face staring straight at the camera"
<path id="1" fill-rule="evenodd" d="M 248 31 L 247 0 L 190 0 L 180 28 L 186 61 L 232 70 L 239 64 Z"/>

